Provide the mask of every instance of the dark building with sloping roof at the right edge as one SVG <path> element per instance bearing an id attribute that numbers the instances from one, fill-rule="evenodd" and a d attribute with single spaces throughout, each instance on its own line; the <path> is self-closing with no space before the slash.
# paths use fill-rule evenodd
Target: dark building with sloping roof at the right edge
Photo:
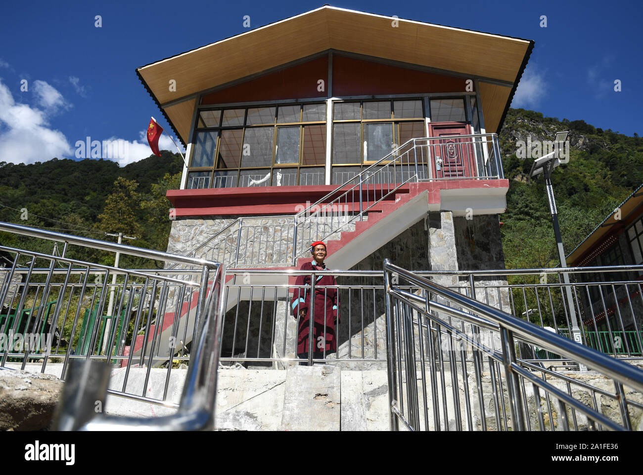
<path id="1" fill-rule="evenodd" d="M 643 264 L 643 185 L 620 203 L 583 242 L 567 257 L 570 267 L 617 266 Z M 643 271 L 597 272 L 577 274 L 581 282 L 643 282 Z M 641 284 L 611 284 L 587 286 L 580 293 L 583 304 L 583 324 L 590 332 L 618 332 L 625 336 L 633 352 L 641 354 L 640 337 L 643 329 L 643 297 Z M 635 318 L 633 318 L 635 315 Z M 607 317 L 607 318 L 606 318 Z M 603 350 L 611 352 L 611 342 L 601 341 Z M 623 351 L 626 343 L 617 342 Z M 617 348 L 618 349 L 618 348 Z"/>

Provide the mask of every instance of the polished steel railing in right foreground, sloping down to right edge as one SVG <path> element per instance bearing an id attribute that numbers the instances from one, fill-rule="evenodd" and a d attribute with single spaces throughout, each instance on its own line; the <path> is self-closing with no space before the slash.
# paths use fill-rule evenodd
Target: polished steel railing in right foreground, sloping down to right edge
<path id="1" fill-rule="evenodd" d="M 641 429 L 640 368 L 388 259 L 384 277 L 392 430 Z M 553 371 L 545 361 L 517 356 L 520 345 L 590 371 Z"/>

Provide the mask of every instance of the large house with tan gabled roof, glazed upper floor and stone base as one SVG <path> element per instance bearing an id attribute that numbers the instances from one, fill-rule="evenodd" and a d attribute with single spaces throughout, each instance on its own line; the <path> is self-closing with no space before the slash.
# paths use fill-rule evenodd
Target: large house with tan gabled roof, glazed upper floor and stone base
<path id="1" fill-rule="evenodd" d="M 533 46 L 323 6 L 138 68 L 186 145 L 168 252 L 298 268 L 324 239 L 335 269 L 503 268 L 495 134 Z"/>

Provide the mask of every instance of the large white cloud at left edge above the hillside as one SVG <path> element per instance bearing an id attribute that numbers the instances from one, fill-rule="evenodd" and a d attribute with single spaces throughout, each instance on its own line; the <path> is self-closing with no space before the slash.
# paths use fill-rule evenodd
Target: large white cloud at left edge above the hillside
<path id="1" fill-rule="evenodd" d="M 41 101 L 50 104 L 46 110 L 15 103 L 8 87 L 0 81 L 0 162 L 44 162 L 53 157 L 72 155 L 64 134 L 52 130 L 47 121 L 56 105 L 64 104 L 64 99 L 62 96 L 57 98 L 55 93 L 60 93 L 53 87 L 42 81 L 40 83 L 35 89 L 40 88 Z"/>

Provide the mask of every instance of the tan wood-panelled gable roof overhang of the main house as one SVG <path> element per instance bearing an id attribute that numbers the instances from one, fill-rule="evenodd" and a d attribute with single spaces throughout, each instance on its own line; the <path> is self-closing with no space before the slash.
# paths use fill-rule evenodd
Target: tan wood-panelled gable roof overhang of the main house
<path id="1" fill-rule="evenodd" d="M 486 131 L 498 132 L 533 45 L 532 40 L 322 6 L 136 73 L 184 144 L 201 92 L 331 49 L 478 78 Z M 176 81 L 176 91 L 170 91 L 170 80 Z"/>

